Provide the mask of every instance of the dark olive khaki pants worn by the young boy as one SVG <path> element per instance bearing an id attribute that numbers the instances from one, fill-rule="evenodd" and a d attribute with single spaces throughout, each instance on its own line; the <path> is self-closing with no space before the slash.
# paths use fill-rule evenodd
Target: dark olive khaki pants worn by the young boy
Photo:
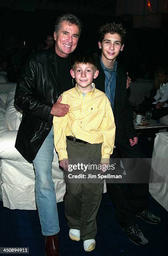
<path id="1" fill-rule="evenodd" d="M 67 141 L 69 164 L 99 164 L 101 148 L 101 143 L 83 144 Z M 88 175 L 92 173 L 92 170 L 83 173 Z M 67 174 L 69 172 L 66 172 Z M 83 241 L 93 239 L 97 234 L 96 216 L 102 199 L 103 187 L 103 180 L 90 183 L 90 180 L 79 178 L 66 183 L 65 215 L 69 228 L 80 230 Z"/>

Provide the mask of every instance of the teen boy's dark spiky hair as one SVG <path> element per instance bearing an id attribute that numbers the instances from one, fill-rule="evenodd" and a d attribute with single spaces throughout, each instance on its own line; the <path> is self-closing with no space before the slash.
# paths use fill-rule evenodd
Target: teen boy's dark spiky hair
<path id="1" fill-rule="evenodd" d="M 115 22 L 112 22 L 112 23 L 106 23 L 106 24 L 102 25 L 99 28 L 100 43 L 102 43 L 104 35 L 107 33 L 119 34 L 121 36 L 122 44 L 124 44 L 127 32 L 126 32 L 125 28 L 123 28 L 122 24 L 115 24 Z"/>

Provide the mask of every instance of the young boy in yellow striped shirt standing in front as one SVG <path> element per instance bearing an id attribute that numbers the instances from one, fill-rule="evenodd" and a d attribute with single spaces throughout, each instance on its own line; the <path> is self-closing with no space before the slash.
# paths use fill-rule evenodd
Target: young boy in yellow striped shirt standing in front
<path id="1" fill-rule="evenodd" d="M 103 163 L 108 164 L 114 147 L 115 122 L 107 96 L 92 83 L 99 71 L 94 59 L 79 55 L 70 73 L 76 79 L 76 87 L 64 92 L 61 101 L 70 106 L 69 112 L 64 117 L 53 118 L 59 164 L 69 171 L 70 163 L 76 163 L 77 171 L 80 171 L 79 166 L 82 167 L 83 163 L 101 163 L 104 167 Z M 86 177 L 90 172 L 87 168 L 83 175 Z M 69 178 L 70 175 L 72 177 L 73 173 L 66 173 Z M 76 180 L 75 177 L 66 183 L 64 202 L 70 227 L 69 237 L 75 241 L 81 238 L 85 251 L 95 248 L 96 216 L 103 187 L 103 182 L 91 183 L 84 179 Z"/>

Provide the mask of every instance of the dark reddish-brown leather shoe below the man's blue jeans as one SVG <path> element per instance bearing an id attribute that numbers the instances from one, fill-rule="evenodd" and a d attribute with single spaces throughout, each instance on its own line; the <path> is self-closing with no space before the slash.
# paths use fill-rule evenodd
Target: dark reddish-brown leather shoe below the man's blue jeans
<path id="1" fill-rule="evenodd" d="M 59 256 L 58 235 L 45 236 L 45 256 Z"/>

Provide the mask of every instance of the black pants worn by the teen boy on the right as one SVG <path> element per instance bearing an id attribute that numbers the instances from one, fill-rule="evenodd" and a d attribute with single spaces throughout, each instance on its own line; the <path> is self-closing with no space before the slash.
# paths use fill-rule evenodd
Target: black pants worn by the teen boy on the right
<path id="1" fill-rule="evenodd" d="M 132 158 L 145 158 L 145 156 L 138 144 L 131 147 L 129 140 L 126 141 L 116 132 L 115 149 L 112 158 L 120 158 L 122 160 L 127 175 L 130 172 L 127 161 Z M 144 166 L 142 166 L 142 172 L 143 169 Z M 138 172 L 140 171 L 138 170 Z M 107 183 L 107 189 L 115 205 L 120 226 L 129 227 L 134 225 L 135 213 L 143 211 L 148 206 L 148 183 Z"/>

